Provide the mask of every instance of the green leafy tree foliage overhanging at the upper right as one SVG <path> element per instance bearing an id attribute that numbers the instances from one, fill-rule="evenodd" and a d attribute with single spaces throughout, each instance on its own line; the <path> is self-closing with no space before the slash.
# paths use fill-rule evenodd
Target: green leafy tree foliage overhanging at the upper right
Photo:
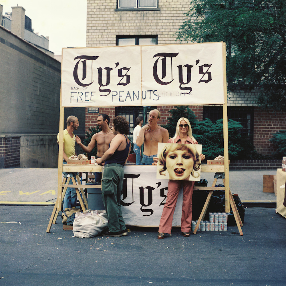
<path id="1" fill-rule="evenodd" d="M 257 88 L 263 108 L 286 110 L 285 0 L 191 0 L 179 42 L 224 41 L 228 89 Z"/>

